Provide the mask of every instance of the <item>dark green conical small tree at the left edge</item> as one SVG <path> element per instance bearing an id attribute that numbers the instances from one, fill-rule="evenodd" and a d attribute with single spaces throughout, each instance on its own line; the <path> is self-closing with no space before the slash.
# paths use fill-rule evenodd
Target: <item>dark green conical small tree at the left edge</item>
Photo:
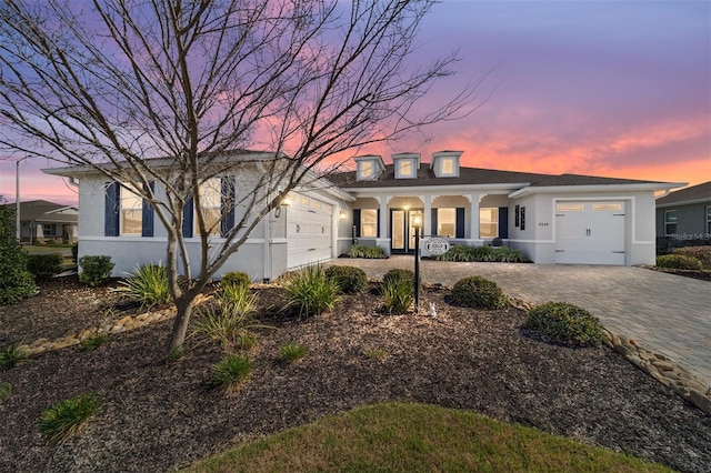
<path id="1" fill-rule="evenodd" d="M 0 195 L 0 305 L 11 304 L 37 291 L 27 270 L 27 252 L 17 240 L 14 210 Z"/>

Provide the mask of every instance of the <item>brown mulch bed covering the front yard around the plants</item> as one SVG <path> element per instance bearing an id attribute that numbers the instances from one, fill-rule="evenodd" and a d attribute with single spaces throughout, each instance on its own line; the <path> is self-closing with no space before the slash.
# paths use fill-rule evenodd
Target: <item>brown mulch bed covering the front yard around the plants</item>
<path id="1" fill-rule="evenodd" d="M 263 288 L 250 380 L 233 394 L 211 383 L 220 349 L 188 342 L 164 361 L 171 322 L 111 335 L 96 351 L 76 346 L 0 373 L 12 392 L 0 403 L 0 471 L 167 471 L 228 446 L 379 401 L 468 409 L 607 446 L 690 472 L 711 464 L 711 417 L 607 348 L 537 340 L 515 309 L 475 311 L 429 288 L 437 316 L 387 315 L 370 290 L 331 313 L 297 320 L 276 311 Z M 94 325 L 120 304 L 106 289 L 53 281 L 36 298 L 0 308 L 0 346 Z M 132 309 L 131 309 L 132 310 Z M 120 306 L 113 315 L 122 315 Z M 308 356 L 288 365 L 279 346 Z M 384 356 L 380 358 L 380 355 Z M 37 419 L 82 392 L 102 405 L 76 436 L 46 441 Z"/>

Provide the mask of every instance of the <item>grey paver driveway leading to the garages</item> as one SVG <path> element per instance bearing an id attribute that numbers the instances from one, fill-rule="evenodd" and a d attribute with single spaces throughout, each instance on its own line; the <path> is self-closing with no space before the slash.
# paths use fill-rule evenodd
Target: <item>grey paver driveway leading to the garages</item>
<path id="1" fill-rule="evenodd" d="M 413 269 L 414 260 L 339 259 L 332 264 L 356 265 L 370 279 L 381 279 L 392 268 Z M 420 268 L 427 283 L 452 286 L 478 274 L 527 302 L 580 305 L 611 332 L 668 355 L 711 385 L 711 282 L 630 266 L 423 260 Z"/>

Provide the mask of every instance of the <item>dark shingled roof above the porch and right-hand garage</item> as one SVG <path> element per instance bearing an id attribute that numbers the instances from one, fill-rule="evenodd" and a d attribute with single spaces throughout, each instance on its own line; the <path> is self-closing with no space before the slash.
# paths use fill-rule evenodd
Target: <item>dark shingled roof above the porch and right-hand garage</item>
<path id="1" fill-rule="evenodd" d="M 394 165 L 385 165 L 385 171 L 377 181 L 357 181 L 356 171 L 342 172 L 329 175 L 329 179 L 341 188 L 373 189 L 373 188 L 400 188 L 400 187 L 427 187 L 427 185 L 488 185 L 513 184 L 518 189 L 528 188 L 558 188 L 558 187 L 587 187 L 587 185 L 643 185 L 649 188 L 674 188 L 679 184 L 668 182 L 641 181 L 635 179 L 601 178 L 579 174 L 539 174 L 531 172 L 499 171 L 492 169 L 464 168 L 459 170 L 457 178 L 437 178 L 429 167 L 422 167 L 418 171 L 417 179 L 395 179 Z"/>

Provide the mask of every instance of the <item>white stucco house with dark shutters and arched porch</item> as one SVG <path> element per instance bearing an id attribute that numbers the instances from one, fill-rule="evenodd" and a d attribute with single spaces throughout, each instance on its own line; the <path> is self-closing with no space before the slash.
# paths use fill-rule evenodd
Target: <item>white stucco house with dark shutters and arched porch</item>
<path id="1" fill-rule="evenodd" d="M 357 157 L 354 171 L 296 188 L 217 276 L 239 270 L 253 280 L 273 280 L 338 258 L 353 243 L 379 245 L 388 254 L 410 253 L 415 213 L 423 217 L 424 240 L 438 235 L 451 244 L 481 245 L 500 239 L 539 264 L 653 264 L 654 193 L 683 185 L 467 168 L 460 165 L 462 154 L 435 152 L 427 163 L 418 153 L 400 153 L 391 164 L 380 155 Z M 164 260 L 166 232 L 140 199 L 130 193 L 122 198 L 120 185 L 87 168 L 44 172 L 78 181 L 80 256 L 111 255 L 117 275 Z M 234 184 L 234 177 L 223 177 L 218 189 L 232 187 L 224 179 Z M 229 198 L 218 195 L 216 208 Z M 190 238 L 189 212 L 183 233 L 197 261 L 199 241 Z M 224 219 L 222 230 L 233 219 Z"/>

